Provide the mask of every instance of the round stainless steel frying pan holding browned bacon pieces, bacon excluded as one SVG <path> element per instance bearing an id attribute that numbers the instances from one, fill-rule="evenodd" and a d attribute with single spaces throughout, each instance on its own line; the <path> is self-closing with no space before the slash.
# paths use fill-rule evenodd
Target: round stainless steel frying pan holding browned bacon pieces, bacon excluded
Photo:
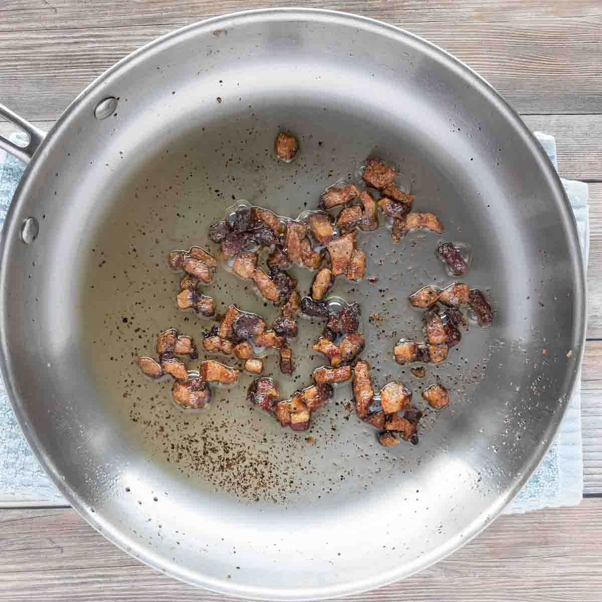
<path id="1" fill-rule="evenodd" d="M 2 237 L 5 382 L 52 479 L 133 556 L 227 594 L 349 594 L 456 550 L 535 469 L 582 355 L 582 259 L 553 167 L 455 58 L 349 14 L 253 11 L 120 61 L 47 135 L 2 114 L 31 135 L 26 149 L 2 141 L 29 160 Z M 288 165 L 272 151 L 282 127 L 300 140 Z M 444 222 L 442 240 L 473 247 L 468 280 L 497 315 L 420 380 L 394 363 L 393 344 L 420 333 L 408 294 L 447 281 L 439 238 L 362 234 L 378 280 L 334 293 L 362 304 L 377 386 L 403 380 L 420 405 L 439 377 L 450 406 L 427 415 L 417 446 L 393 450 L 349 411 L 349 386 L 306 433 L 253 411 L 249 376 L 206 411 L 175 409 L 170 383 L 133 361 L 160 330 L 200 337 L 211 321 L 176 313 L 167 252 L 211 247 L 207 226 L 233 199 L 288 216 L 315 208 L 371 154 L 399 166 L 417 209 Z M 207 292 L 219 309 L 234 300 L 275 315 L 224 270 Z M 319 329 L 303 322 L 285 391 L 323 363 L 307 349 Z M 275 358 L 267 371 L 278 376 Z"/>

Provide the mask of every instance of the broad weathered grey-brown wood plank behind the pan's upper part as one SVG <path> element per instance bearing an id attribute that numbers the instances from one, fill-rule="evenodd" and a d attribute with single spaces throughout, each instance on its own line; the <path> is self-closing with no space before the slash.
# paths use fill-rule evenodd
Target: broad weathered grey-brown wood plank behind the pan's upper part
<path id="1" fill-rule="evenodd" d="M 3 102 L 27 119 L 55 120 L 82 88 L 117 60 L 177 25 L 204 16 L 198 13 L 194 19 L 158 25 L 2 31 Z M 394 15 L 388 20 L 405 23 Z M 414 33 L 468 63 L 520 113 L 600 112 L 602 17 L 409 25 Z"/>

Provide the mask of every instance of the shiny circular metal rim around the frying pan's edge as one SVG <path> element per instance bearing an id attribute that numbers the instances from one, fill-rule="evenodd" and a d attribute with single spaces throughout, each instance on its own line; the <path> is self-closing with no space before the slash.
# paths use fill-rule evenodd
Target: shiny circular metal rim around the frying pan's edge
<path id="1" fill-rule="evenodd" d="M 518 114 L 509 104 L 507 104 L 499 93 L 486 82 L 485 79 L 474 72 L 473 69 L 450 55 L 448 52 L 397 26 L 389 25 L 388 23 L 371 19 L 370 17 L 317 8 L 268 8 L 240 11 L 193 23 L 147 43 L 128 56 L 122 58 L 122 60 L 114 64 L 114 66 L 110 67 L 110 69 L 102 73 L 95 81 L 84 88 L 84 90 L 69 105 L 66 111 L 64 111 L 57 123 L 51 128 L 48 136 L 40 145 L 36 155 L 34 155 L 33 160 L 26 167 L 25 173 L 23 173 L 19 187 L 14 195 L 13 202 L 8 210 L 4 233 L 2 235 L 2 240 L 0 241 L 0 284 L 3 285 L 0 299 L 2 322 L 4 323 L 7 320 L 7 287 L 5 286 L 5 282 L 7 280 L 7 253 L 8 247 L 10 246 L 7 241 L 13 240 L 15 236 L 18 236 L 18 229 L 20 228 L 20 224 L 16 222 L 16 216 L 19 213 L 18 208 L 28 196 L 28 188 L 36 177 L 36 170 L 42 166 L 45 155 L 52 151 L 52 147 L 61 137 L 61 134 L 69 124 L 70 117 L 75 114 L 81 105 L 87 101 L 88 97 L 95 93 L 99 88 L 110 87 L 107 84 L 110 84 L 113 76 L 119 75 L 122 70 L 132 67 L 139 60 L 146 60 L 153 52 L 161 51 L 173 43 L 181 43 L 187 36 L 194 37 L 202 35 L 203 33 L 206 33 L 206 31 L 216 29 L 216 26 L 217 28 L 220 28 L 221 26 L 227 29 L 231 26 L 241 26 L 247 23 L 256 22 L 257 20 L 268 20 L 272 22 L 278 22 L 279 20 L 296 20 L 301 22 L 313 21 L 320 23 L 337 22 L 343 25 L 355 25 L 357 28 L 364 29 L 374 35 L 385 35 L 394 41 L 410 43 L 415 47 L 420 48 L 421 51 L 425 52 L 433 59 L 444 64 L 448 69 L 453 70 L 458 76 L 462 76 L 465 81 L 474 85 L 477 92 L 486 96 L 498 113 L 502 114 L 504 119 L 506 119 L 508 125 L 514 128 L 518 137 L 520 137 L 521 141 L 529 148 L 533 157 L 536 159 L 539 169 L 541 169 L 550 186 L 550 192 L 552 193 L 551 201 L 556 203 L 560 211 L 560 217 L 563 217 L 563 223 L 566 224 L 567 229 L 571 230 L 571 232 L 568 233 L 567 238 L 570 247 L 569 250 L 571 251 L 574 266 L 576 267 L 576 270 L 573 270 L 573 276 L 574 284 L 576 285 L 574 296 L 576 298 L 577 308 L 574 314 L 574 317 L 576 318 L 574 329 L 576 332 L 576 345 L 573 347 L 575 370 L 568 378 L 568 389 L 570 389 L 570 393 L 572 394 L 576 385 L 577 374 L 579 373 L 578 367 L 582 361 L 583 350 L 585 348 L 585 268 L 582 253 L 580 252 L 576 228 L 569 228 L 568 226 L 568 223 L 574 223 L 574 217 L 568 198 L 566 197 L 566 193 L 560 182 L 559 175 L 551 165 L 544 150 L 539 145 L 538 141 L 536 141 L 535 137 L 533 137 L 533 134 L 529 131 L 527 126 L 524 125 Z M 244 598 L 255 597 L 264 600 L 317 600 L 321 598 L 357 594 L 409 577 L 412 574 L 427 568 L 427 566 L 438 562 L 445 556 L 448 556 L 448 554 L 457 550 L 461 545 L 464 545 L 482 532 L 482 530 L 501 513 L 506 504 L 514 498 L 524 483 L 527 482 L 550 447 L 554 438 L 553 435 L 557 432 L 570 399 L 569 391 L 567 391 L 564 399 L 559 400 L 559 405 L 561 405 L 562 408 L 561 411 L 554 414 L 550 420 L 550 424 L 548 424 L 547 431 L 551 436 L 548 436 L 547 444 L 539 446 L 535 452 L 532 453 L 529 462 L 527 462 L 526 468 L 522 471 L 520 477 L 516 477 L 507 486 L 505 494 L 503 496 L 500 495 L 495 503 L 491 504 L 488 509 L 475 517 L 473 522 L 465 527 L 462 532 L 458 533 L 458 535 L 453 539 L 450 539 L 446 544 L 435 548 L 435 550 L 429 554 L 427 562 L 425 562 L 425 559 L 423 558 L 419 565 L 417 562 L 414 562 L 411 565 L 405 565 L 386 573 L 379 573 L 376 574 L 376 576 L 373 575 L 368 579 L 358 579 L 350 583 L 338 583 L 337 585 L 311 586 L 304 588 L 295 588 L 293 586 L 287 589 L 274 589 L 266 586 L 237 586 L 235 583 L 228 582 L 226 579 L 216 579 L 208 575 L 200 574 L 198 571 L 193 572 L 185 570 L 178 565 L 175 565 L 175 563 L 172 564 L 171 562 L 168 562 L 166 559 L 163 559 L 160 554 L 155 553 L 140 542 L 130 539 L 126 533 L 120 532 L 111 524 L 103 521 L 101 517 L 91 512 L 90 508 L 78 497 L 76 491 L 70 488 L 70 486 L 61 479 L 54 462 L 46 454 L 36 433 L 28 427 L 27 412 L 16 392 L 12 371 L 10 369 L 10 344 L 6 339 L 5 332 L 6 329 L 2 328 L 0 333 L 1 369 L 7 394 L 11 400 L 17 421 L 25 433 L 30 447 L 39 459 L 40 464 L 42 464 L 46 473 L 49 474 L 59 491 L 67 498 L 79 515 L 81 515 L 91 526 L 99 530 L 102 535 L 110 539 L 117 547 L 126 551 L 138 560 L 153 566 L 155 569 L 167 573 L 176 579 L 190 583 L 191 585 L 202 586 L 210 591 Z M 417 566 L 414 566 L 414 564 Z"/>

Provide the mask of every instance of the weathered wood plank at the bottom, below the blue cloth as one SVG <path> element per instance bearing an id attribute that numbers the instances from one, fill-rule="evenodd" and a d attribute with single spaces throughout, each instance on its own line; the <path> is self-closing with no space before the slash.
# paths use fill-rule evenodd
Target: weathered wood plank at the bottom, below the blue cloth
<path id="1" fill-rule="evenodd" d="M 498 518 L 417 576 L 350 601 L 598 602 L 602 500 Z M 420 594 L 417 594 L 420 592 Z M 114 547 L 66 510 L 0 510 L 0 598 L 173 602 L 233 600 L 176 582 Z"/>

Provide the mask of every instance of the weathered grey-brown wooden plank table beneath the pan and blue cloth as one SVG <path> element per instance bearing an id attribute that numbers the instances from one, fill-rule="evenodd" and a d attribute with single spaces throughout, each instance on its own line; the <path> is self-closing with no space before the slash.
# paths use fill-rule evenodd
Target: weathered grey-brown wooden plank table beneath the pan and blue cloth
<path id="1" fill-rule="evenodd" d="M 3 0 L 0 98 L 49 129 L 119 58 L 247 0 Z M 348 0 L 337 8 L 400 25 L 468 63 L 556 136 L 560 174 L 591 182 L 588 343 L 583 365 L 585 496 L 574 508 L 501 517 L 447 560 L 353 600 L 602 600 L 602 0 Z M 10 131 L 0 123 L 0 132 Z M 597 422 L 600 424 L 600 421 Z M 1 500 L 0 500 L 1 501 Z M 36 504 L 37 506 L 38 504 Z M 0 510 L 0 600 L 225 600 L 156 573 L 68 508 Z"/>

